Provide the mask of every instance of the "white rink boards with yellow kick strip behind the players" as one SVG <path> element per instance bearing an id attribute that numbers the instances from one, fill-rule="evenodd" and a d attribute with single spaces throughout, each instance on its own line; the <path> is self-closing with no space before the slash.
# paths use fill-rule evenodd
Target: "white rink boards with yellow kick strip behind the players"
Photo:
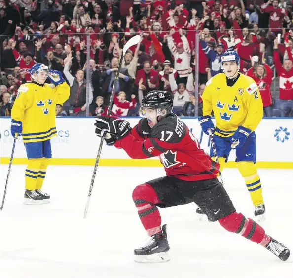
<path id="1" fill-rule="evenodd" d="M 135 126 L 140 118 L 127 118 Z M 203 134 L 198 120 L 183 121 L 209 153 L 210 140 Z M 9 163 L 13 145 L 10 118 L 1 118 L 1 164 Z M 100 139 L 95 135 L 93 118 L 61 117 L 56 119 L 57 137 L 51 139 L 54 165 L 94 165 Z M 260 122 L 256 129 L 257 166 L 259 168 L 293 169 L 293 119 L 270 118 Z M 228 167 L 236 167 L 235 151 L 229 157 Z M 17 139 L 13 163 L 26 164 L 26 151 L 22 139 Z M 103 166 L 161 166 L 158 158 L 130 159 L 115 147 L 104 144 L 99 165 Z"/>

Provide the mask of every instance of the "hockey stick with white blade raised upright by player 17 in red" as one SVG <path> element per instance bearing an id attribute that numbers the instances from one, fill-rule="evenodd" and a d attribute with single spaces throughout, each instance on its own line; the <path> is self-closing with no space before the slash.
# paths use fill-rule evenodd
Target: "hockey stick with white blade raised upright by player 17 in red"
<path id="1" fill-rule="evenodd" d="M 120 57 L 120 61 L 119 61 L 119 66 L 118 66 L 118 69 L 116 71 L 116 75 L 115 75 L 115 79 L 114 79 L 114 85 L 113 85 L 112 92 L 111 92 L 111 97 L 110 97 L 110 103 L 109 103 L 109 106 L 108 106 L 107 116 L 110 115 L 111 110 L 112 110 L 114 94 L 115 94 L 115 91 L 116 91 L 116 84 L 117 84 L 117 81 L 118 81 L 118 78 L 119 78 L 119 73 L 120 73 L 120 69 L 121 69 L 122 60 L 124 58 L 124 55 L 125 55 L 126 51 L 131 46 L 138 44 L 140 42 L 140 40 L 141 40 L 141 36 L 136 35 L 136 36 L 132 37 L 130 40 L 128 40 L 126 42 L 125 46 L 123 47 L 121 57 Z M 99 149 L 98 149 L 98 154 L 97 154 L 97 158 L 96 158 L 94 172 L 93 172 L 93 175 L 92 175 L 92 180 L 91 180 L 90 188 L 89 188 L 89 191 L 88 191 L 87 201 L 86 201 L 85 209 L 84 209 L 84 212 L 83 212 L 83 218 L 86 217 L 87 210 L 88 210 L 88 207 L 89 207 L 90 198 L 91 198 L 91 195 L 92 195 L 92 190 L 93 190 L 94 181 L 95 181 L 95 176 L 96 176 L 96 172 L 97 172 L 97 168 L 98 168 L 99 160 L 100 160 L 100 155 L 101 155 L 101 151 L 102 151 L 102 147 L 103 147 L 104 138 L 105 138 L 105 135 L 103 135 L 101 137 L 101 142 L 100 142 L 100 146 L 99 146 Z"/>

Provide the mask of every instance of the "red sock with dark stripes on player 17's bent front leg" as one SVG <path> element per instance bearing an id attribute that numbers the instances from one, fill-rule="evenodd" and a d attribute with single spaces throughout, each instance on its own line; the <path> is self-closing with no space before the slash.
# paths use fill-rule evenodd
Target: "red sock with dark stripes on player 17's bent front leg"
<path id="1" fill-rule="evenodd" d="M 138 185 L 132 193 L 139 217 L 149 236 L 161 233 L 161 215 L 155 204 L 161 203 L 156 192 L 149 184 Z"/>

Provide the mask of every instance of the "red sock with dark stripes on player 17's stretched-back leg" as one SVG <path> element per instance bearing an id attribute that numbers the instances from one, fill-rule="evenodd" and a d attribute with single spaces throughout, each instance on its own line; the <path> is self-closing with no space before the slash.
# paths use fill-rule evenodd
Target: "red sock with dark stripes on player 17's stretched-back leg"
<path id="1" fill-rule="evenodd" d="M 262 246 L 266 246 L 270 241 L 270 237 L 265 234 L 264 229 L 260 225 L 250 218 L 245 218 L 241 213 L 233 212 L 221 218 L 219 223 L 227 231 L 240 234 Z"/>

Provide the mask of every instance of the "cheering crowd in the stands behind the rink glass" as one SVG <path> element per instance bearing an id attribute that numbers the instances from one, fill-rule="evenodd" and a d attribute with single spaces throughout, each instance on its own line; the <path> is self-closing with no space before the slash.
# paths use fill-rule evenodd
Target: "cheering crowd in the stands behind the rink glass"
<path id="1" fill-rule="evenodd" d="M 264 116 L 293 117 L 293 1 L 10 0 L 1 1 L 0 29 L 1 116 L 11 114 L 35 63 L 61 71 L 71 87 L 57 116 L 106 114 L 122 48 L 139 34 L 124 56 L 112 115 L 138 116 L 155 89 L 172 96 L 177 115 L 194 116 L 197 106 L 202 115 L 206 82 L 235 50 Z"/>

